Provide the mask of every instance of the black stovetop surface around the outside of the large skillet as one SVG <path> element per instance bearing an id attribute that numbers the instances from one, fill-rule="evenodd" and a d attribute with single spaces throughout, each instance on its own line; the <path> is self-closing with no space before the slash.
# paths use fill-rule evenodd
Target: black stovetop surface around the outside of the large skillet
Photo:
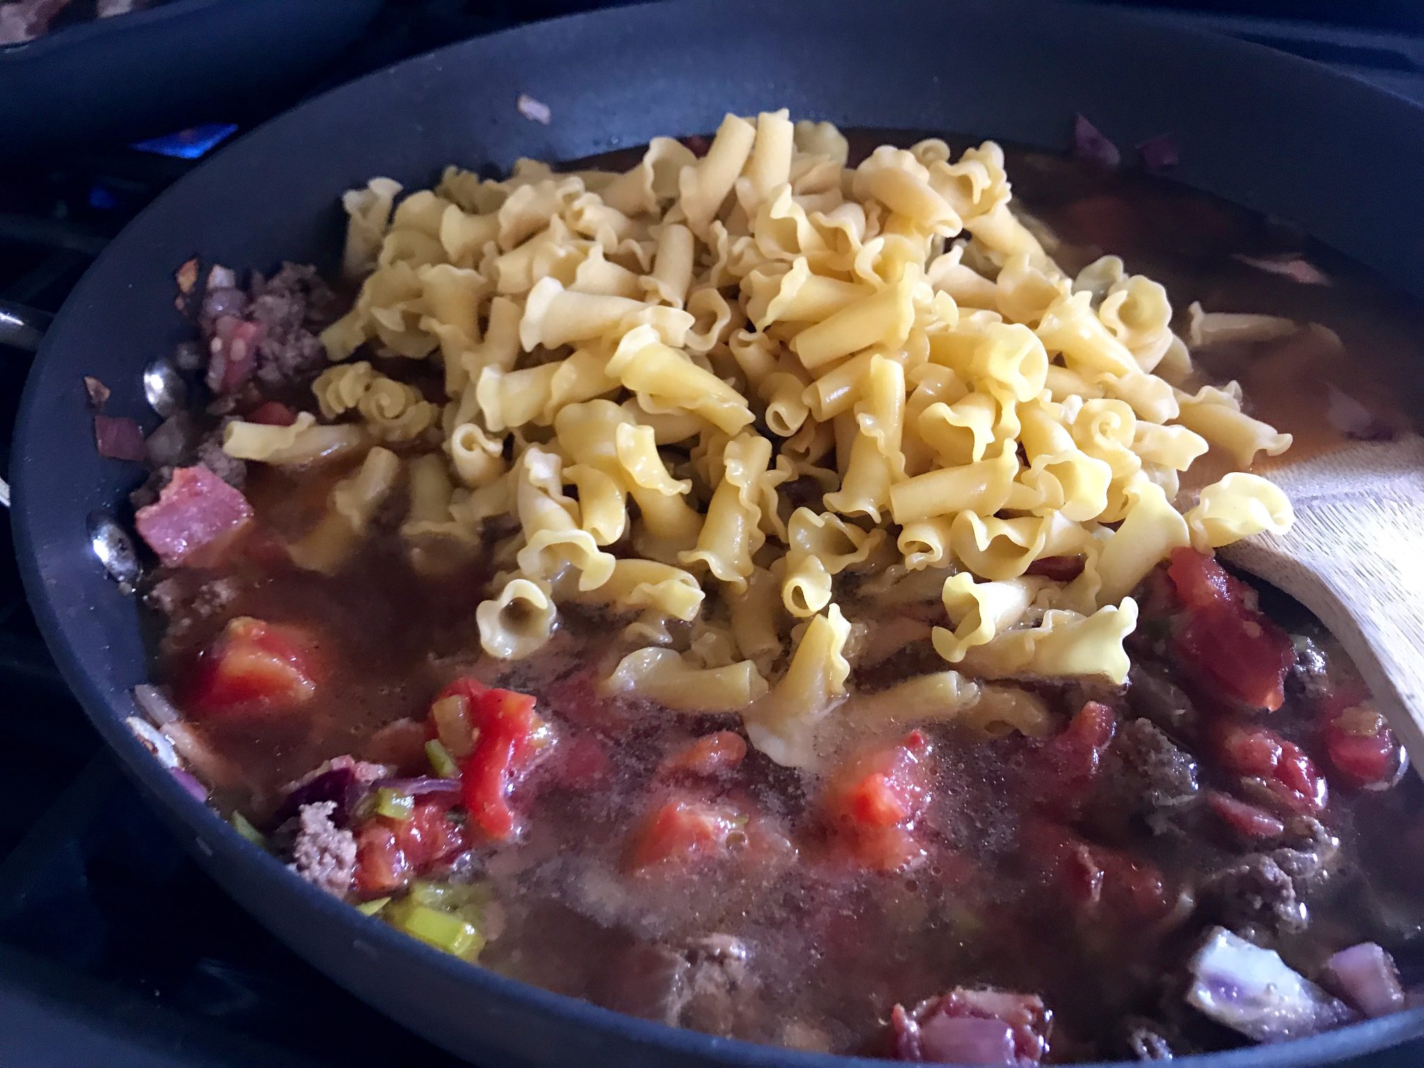
<path id="1" fill-rule="evenodd" d="M 595 6 L 605 4 L 390 0 L 309 91 L 447 41 Z M 1424 101 L 1424 13 L 1414 3 L 1361 0 L 1349 9 L 1354 26 L 1339 24 L 1344 7 L 1330 3 L 1297 9 L 1330 23 L 1263 19 L 1253 11 L 1272 6 L 1249 1 L 1151 7 L 1153 17 L 1284 47 Z M 222 134 L 206 131 L 219 144 Z M 0 172 L 0 300 L 56 310 L 107 238 L 192 165 L 130 148 Z M 0 346 L 6 464 L 26 359 Z M 9 525 L 0 525 L 0 1068 L 457 1064 L 313 971 L 187 859 L 100 750 L 44 651 L 13 560 Z M 1424 1045 L 1353 1068 L 1420 1064 Z"/>

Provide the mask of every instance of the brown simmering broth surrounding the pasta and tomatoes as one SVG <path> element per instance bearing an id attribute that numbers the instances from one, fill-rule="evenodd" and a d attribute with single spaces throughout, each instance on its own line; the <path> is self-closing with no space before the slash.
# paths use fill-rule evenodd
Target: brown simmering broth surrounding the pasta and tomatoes
<path id="1" fill-rule="evenodd" d="M 863 147 L 869 138 L 853 142 Z M 1206 376 L 1239 379 L 1249 410 L 1296 436 L 1292 456 L 1347 443 L 1326 417 L 1326 384 L 1364 404 L 1380 426 L 1403 430 L 1407 413 L 1424 410 L 1417 396 L 1424 377 L 1405 370 L 1413 372 L 1417 353 L 1418 306 L 1340 256 L 1304 244 L 1289 226 L 1166 181 L 1095 174 L 1055 157 L 1010 151 L 1008 171 L 1017 201 L 1059 235 L 1057 258 L 1069 272 L 1111 251 L 1131 272 L 1166 285 L 1182 315 L 1200 300 L 1208 310 L 1283 315 L 1339 335 L 1343 352 L 1293 337 L 1199 356 Z M 1235 259 L 1280 252 L 1304 253 L 1331 283 L 1300 285 Z M 266 527 L 290 537 L 315 520 L 339 474 L 256 470 L 249 497 Z M 377 524 L 359 558 L 333 578 L 285 564 L 244 564 L 228 575 L 236 580 L 236 598 L 222 615 L 169 635 L 162 678 L 178 682 L 181 692 L 194 658 L 222 622 L 255 615 L 323 635 L 319 655 L 328 684 L 300 722 L 199 726 L 241 769 L 224 800 L 261 815 L 283 783 L 326 758 L 389 759 L 380 740 L 373 742 L 377 729 L 423 718 L 447 681 L 474 672 L 537 693 L 561 732 L 560 746 L 600 746 L 611 765 L 595 790 L 570 787 L 557 770 L 537 770 L 520 787 L 528 797 L 521 803 L 524 836 L 493 852 L 476 850 L 461 863 L 460 877 L 494 887 L 498 934 L 481 958 L 487 967 L 618 1002 L 609 975 L 637 947 L 732 934 L 755 947 L 756 994 L 740 1015 L 712 1028 L 834 1051 L 880 1051 L 877 1037 L 891 1005 L 913 1005 L 956 985 L 1041 994 L 1057 1018 L 1055 1061 L 1118 1054 L 1115 1032 L 1125 1015 L 1161 1015 L 1163 980 L 1199 927 L 1064 923 L 1061 904 L 1025 856 L 1024 768 L 1038 743 L 1018 736 L 984 742 L 953 726 L 926 728 L 936 762 L 934 800 L 921 820 L 930 857 L 909 873 L 864 873 L 837 859 L 813 803 L 840 755 L 897 738 L 909 726 L 890 719 L 830 738 L 823 766 L 806 773 L 778 768 L 753 750 L 736 779 L 719 787 L 743 797 L 792 840 L 796 863 L 719 871 L 711 881 L 705 870 L 629 876 L 629 826 L 665 789 L 655 780 L 658 765 L 696 735 L 735 728 L 736 721 L 618 702 L 600 706 L 591 719 L 588 709 L 567 703 L 571 678 L 607 671 L 618 654 L 611 638 L 617 627 L 597 617 L 567 621 L 527 661 L 480 662 L 474 608 L 487 574 L 478 561 L 420 574 L 392 521 Z M 1269 604 L 1293 632 L 1314 634 L 1337 671 L 1349 671 L 1340 649 L 1299 607 L 1283 598 Z M 923 639 L 911 642 L 894 664 L 930 669 L 933 652 L 926 649 Z M 1152 654 L 1143 646 L 1143 655 Z M 1074 688 L 1042 692 L 1059 721 L 1081 703 Z M 1111 699 L 1121 703 L 1119 695 Z M 854 722 L 853 703 L 839 722 Z M 1270 723 L 1307 749 L 1314 745 L 1310 709 L 1299 699 Z M 1205 759 L 1200 773 L 1203 786 L 1226 782 Z M 1391 950 L 1417 946 L 1424 926 L 1424 906 L 1413 890 L 1424 877 L 1421 800 L 1413 778 L 1380 793 L 1334 792 L 1326 819 L 1344 840 L 1350 863 L 1312 897 L 1310 928 L 1277 941 L 1289 961 L 1309 968 L 1364 938 Z M 1094 833 L 1155 863 L 1172 891 L 1189 891 L 1203 873 L 1242 852 L 1200 822 L 1179 834 L 1151 834 L 1126 822 Z M 1400 840 L 1411 847 L 1401 849 Z M 1192 1032 L 1190 1042 L 1213 1048 L 1233 1040 L 1205 1028 Z"/>

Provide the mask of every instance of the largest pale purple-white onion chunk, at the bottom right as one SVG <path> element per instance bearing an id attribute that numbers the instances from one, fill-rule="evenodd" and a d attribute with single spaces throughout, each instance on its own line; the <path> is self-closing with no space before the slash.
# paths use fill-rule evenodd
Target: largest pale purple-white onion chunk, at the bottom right
<path id="1" fill-rule="evenodd" d="M 1223 927 L 1192 958 L 1186 1001 L 1218 1024 L 1257 1042 L 1283 1042 L 1356 1020 L 1343 1001 Z"/>

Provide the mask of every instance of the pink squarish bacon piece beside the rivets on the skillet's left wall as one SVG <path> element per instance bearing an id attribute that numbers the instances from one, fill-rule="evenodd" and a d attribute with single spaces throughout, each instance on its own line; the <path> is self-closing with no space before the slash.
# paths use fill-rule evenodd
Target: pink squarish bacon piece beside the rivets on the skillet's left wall
<path id="1" fill-rule="evenodd" d="M 168 567 L 206 567 L 252 520 L 252 506 L 202 464 L 179 467 L 134 525 Z"/>

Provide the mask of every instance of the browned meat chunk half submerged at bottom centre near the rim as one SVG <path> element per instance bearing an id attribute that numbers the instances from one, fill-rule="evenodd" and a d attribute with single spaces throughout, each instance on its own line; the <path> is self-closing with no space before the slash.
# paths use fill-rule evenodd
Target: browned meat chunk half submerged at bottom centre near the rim
<path id="1" fill-rule="evenodd" d="M 682 948 L 635 946 L 609 968 L 601 1000 L 629 1015 L 732 1034 L 755 1004 L 746 946 L 726 934 Z"/>

